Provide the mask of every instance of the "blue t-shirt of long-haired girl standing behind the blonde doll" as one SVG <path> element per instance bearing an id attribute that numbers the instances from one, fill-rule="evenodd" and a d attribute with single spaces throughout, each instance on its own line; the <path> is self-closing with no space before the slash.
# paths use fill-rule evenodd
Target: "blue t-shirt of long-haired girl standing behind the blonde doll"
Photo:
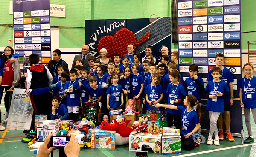
<path id="1" fill-rule="evenodd" d="M 142 76 L 138 73 L 138 75 L 131 75 L 131 97 L 137 96 L 140 93 L 141 84 L 144 83 Z M 135 87 L 135 90 L 134 90 Z M 144 86 L 143 86 L 144 87 Z M 141 94 L 140 94 L 141 97 Z"/>

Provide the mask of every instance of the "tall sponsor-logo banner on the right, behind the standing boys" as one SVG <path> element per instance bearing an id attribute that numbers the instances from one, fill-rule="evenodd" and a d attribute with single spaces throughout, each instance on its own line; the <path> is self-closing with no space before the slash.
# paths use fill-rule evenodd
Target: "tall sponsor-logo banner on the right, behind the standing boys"
<path id="1" fill-rule="evenodd" d="M 183 78 L 197 64 L 207 85 L 207 74 L 216 66 L 215 56 L 224 54 L 224 66 L 233 74 L 234 105 L 231 131 L 241 133 L 242 117 L 238 81 L 241 79 L 241 0 L 177 0 L 179 68 Z M 207 98 L 202 99 L 202 129 L 209 129 Z M 225 123 L 223 123 L 225 129 Z"/>

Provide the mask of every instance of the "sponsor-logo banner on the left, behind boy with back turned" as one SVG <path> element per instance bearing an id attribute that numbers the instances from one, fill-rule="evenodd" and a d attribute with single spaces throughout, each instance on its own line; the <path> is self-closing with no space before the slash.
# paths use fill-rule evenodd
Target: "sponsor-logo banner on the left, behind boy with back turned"
<path id="1" fill-rule="evenodd" d="M 40 63 L 47 64 L 51 59 L 49 0 L 13 0 L 12 4 L 15 53 L 21 62 L 36 53 Z"/>

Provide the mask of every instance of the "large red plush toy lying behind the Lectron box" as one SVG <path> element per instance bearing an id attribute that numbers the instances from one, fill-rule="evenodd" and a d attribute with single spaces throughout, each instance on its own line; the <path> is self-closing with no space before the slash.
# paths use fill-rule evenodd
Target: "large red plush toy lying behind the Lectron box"
<path id="1" fill-rule="evenodd" d="M 122 137 L 128 137 L 130 133 L 133 131 L 131 127 L 128 125 L 128 123 L 131 120 L 125 120 L 122 124 L 118 123 L 115 119 L 111 123 L 108 123 L 107 121 L 101 122 L 101 130 L 110 130 L 110 131 L 116 131 L 116 133 L 119 133 Z"/>

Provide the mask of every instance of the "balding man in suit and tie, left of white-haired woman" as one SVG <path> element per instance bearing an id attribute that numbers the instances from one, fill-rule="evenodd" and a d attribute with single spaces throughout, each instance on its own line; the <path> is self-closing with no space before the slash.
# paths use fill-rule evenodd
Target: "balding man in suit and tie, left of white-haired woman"
<path id="1" fill-rule="evenodd" d="M 88 45 L 83 45 L 81 52 L 82 52 L 82 54 L 75 55 L 75 58 L 74 58 L 73 64 L 72 64 L 72 68 L 75 66 L 76 60 L 82 60 L 83 61 L 83 67 L 82 68 L 89 67 L 88 58 L 91 57 L 91 55 L 88 54 L 89 46 Z"/>

